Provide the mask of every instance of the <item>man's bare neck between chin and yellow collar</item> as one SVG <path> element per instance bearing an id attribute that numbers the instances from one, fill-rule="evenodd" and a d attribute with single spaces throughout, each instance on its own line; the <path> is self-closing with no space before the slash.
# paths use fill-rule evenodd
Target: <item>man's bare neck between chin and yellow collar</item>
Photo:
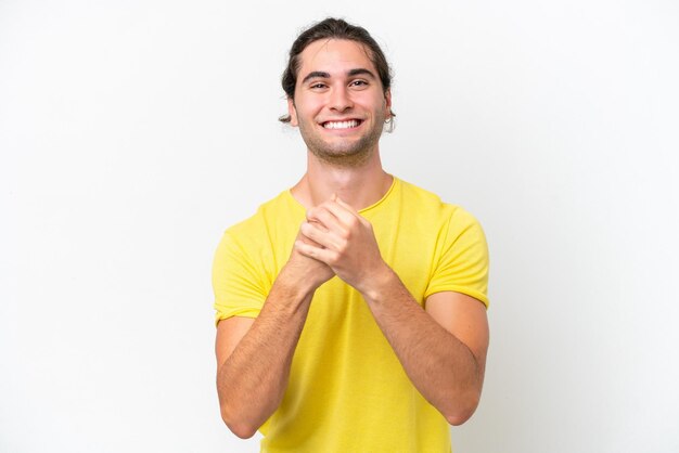
<path id="1" fill-rule="evenodd" d="M 336 194 L 359 210 L 379 202 L 392 185 L 393 177 L 382 169 L 380 153 L 360 166 L 336 166 L 307 153 L 307 172 L 292 189 L 307 209 Z"/>

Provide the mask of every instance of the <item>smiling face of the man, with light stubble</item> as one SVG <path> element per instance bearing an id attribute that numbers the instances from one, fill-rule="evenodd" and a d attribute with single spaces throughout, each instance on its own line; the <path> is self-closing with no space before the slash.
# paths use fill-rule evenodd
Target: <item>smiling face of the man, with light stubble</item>
<path id="1" fill-rule="evenodd" d="M 348 40 L 320 40 L 300 54 L 295 99 L 287 101 L 309 151 L 326 163 L 356 166 L 377 152 L 390 93 L 368 50 Z"/>

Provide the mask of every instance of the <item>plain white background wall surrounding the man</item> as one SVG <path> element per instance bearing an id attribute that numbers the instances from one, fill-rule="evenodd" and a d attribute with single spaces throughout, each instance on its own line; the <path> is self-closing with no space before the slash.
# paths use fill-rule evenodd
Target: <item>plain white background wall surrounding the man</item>
<path id="1" fill-rule="evenodd" d="M 326 15 L 394 66 L 387 171 L 489 240 L 456 452 L 679 451 L 677 2 L 0 0 L 0 452 L 257 451 L 212 258 L 304 171 L 279 78 Z"/>

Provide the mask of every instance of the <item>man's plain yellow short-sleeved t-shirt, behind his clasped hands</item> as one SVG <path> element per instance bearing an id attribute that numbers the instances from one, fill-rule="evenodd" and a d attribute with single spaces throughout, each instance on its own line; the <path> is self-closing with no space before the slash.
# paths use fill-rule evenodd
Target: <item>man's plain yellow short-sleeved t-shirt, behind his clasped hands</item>
<path id="1" fill-rule="evenodd" d="M 360 215 L 415 300 L 458 292 L 488 305 L 488 250 L 460 207 L 394 178 Z M 256 318 L 290 257 L 304 207 L 290 191 L 228 229 L 213 269 L 216 320 Z M 361 295 L 338 277 L 320 286 L 262 452 L 450 452 L 449 426 L 410 383 Z"/>

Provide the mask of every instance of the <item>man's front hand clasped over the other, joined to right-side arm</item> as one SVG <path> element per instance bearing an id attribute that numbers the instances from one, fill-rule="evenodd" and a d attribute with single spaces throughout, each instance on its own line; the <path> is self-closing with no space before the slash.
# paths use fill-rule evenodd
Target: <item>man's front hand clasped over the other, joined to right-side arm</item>
<path id="1" fill-rule="evenodd" d="M 309 209 L 299 231 L 305 241 L 295 249 L 329 266 L 361 294 L 388 270 L 370 222 L 336 196 Z"/>

